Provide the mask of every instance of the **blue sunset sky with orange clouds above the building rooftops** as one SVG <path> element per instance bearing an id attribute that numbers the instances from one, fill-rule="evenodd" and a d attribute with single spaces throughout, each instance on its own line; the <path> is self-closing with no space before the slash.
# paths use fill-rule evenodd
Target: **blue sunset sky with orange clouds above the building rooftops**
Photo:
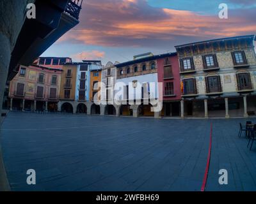
<path id="1" fill-rule="evenodd" d="M 219 18 L 219 5 L 228 18 Z M 256 0 L 83 0 L 80 22 L 42 56 L 132 60 L 175 52 L 175 45 L 256 34 Z"/>

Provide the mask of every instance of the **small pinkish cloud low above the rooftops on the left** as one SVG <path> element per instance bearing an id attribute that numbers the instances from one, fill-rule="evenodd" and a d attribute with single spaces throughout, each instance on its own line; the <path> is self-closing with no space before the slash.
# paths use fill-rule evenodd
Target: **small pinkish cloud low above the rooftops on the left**
<path id="1" fill-rule="evenodd" d="M 100 60 L 105 57 L 105 52 L 100 52 L 98 50 L 92 51 L 83 51 L 77 54 L 73 54 L 70 56 L 74 61 L 82 61 L 82 60 Z"/>

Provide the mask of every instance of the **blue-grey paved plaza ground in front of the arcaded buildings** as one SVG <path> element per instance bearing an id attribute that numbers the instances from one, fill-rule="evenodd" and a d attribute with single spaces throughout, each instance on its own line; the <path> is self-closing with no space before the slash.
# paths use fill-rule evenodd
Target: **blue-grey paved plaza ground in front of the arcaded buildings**
<path id="1" fill-rule="evenodd" d="M 237 138 L 246 120 L 10 112 L 0 140 L 13 191 L 200 191 L 212 123 L 205 191 L 256 191 L 256 143 Z"/>

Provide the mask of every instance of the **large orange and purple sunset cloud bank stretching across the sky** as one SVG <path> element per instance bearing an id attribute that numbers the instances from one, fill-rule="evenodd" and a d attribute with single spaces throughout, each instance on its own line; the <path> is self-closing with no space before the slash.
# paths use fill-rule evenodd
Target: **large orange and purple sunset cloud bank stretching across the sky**
<path id="1" fill-rule="evenodd" d="M 220 19 L 218 13 L 154 8 L 146 0 L 84 2 L 80 24 L 59 41 L 104 47 L 168 47 L 256 31 L 255 9 L 230 10 L 228 19 Z"/>

